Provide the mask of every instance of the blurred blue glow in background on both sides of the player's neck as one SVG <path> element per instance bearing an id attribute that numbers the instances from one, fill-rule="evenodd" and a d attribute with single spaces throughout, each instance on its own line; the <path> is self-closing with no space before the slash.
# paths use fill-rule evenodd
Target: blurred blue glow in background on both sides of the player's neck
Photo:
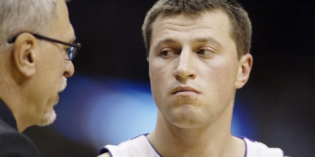
<path id="1" fill-rule="evenodd" d="M 248 112 L 241 104 L 235 106 L 232 134 L 253 137 Z M 58 115 L 53 128 L 96 149 L 149 133 L 157 119 L 150 84 L 118 78 L 75 75 L 69 78 L 55 109 Z"/>

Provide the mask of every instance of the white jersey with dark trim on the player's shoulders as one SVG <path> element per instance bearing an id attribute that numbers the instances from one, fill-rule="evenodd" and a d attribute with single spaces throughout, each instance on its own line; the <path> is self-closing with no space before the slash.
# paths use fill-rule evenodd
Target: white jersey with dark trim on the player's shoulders
<path id="1" fill-rule="evenodd" d="M 245 141 L 245 157 L 284 157 L 280 148 L 269 148 L 265 144 L 240 137 Z M 153 148 L 145 135 L 129 139 L 118 146 L 106 145 L 100 149 L 99 155 L 109 152 L 112 157 L 162 157 Z"/>

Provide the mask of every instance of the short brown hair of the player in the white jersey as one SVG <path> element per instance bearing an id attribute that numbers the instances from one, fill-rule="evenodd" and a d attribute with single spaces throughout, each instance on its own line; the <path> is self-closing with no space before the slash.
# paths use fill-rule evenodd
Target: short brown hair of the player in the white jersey
<path id="1" fill-rule="evenodd" d="M 230 35 L 236 43 L 238 58 L 250 52 L 252 40 L 252 23 L 248 13 L 236 0 L 158 0 L 148 11 L 143 26 L 142 35 L 147 50 L 150 52 L 150 42 L 153 24 L 161 14 L 185 14 L 198 16 L 206 11 L 224 11 L 230 19 Z"/>

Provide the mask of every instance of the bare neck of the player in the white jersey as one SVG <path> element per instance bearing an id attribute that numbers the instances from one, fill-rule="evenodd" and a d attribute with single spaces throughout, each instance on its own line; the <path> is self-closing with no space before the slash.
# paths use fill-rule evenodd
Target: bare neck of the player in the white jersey
<path id="1" fill-rule="evenodd" d="M 158 111 L 155 131 L 147 137 L 163 157 L 244 157 L 245 142 L 231 135 L 233 105 L 212 124 L 183 129 L 171 124 Z"/>

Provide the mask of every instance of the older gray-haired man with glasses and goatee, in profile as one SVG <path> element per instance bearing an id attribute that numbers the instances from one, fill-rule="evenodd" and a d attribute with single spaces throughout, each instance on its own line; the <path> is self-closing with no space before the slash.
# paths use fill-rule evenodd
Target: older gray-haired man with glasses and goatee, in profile
<path id="1" fill-rule="evenodd" d="M 36 157 L 23 133 L 54 122 L 80 44 L 65 0 L 0 0 L 0 157 Z"/>

